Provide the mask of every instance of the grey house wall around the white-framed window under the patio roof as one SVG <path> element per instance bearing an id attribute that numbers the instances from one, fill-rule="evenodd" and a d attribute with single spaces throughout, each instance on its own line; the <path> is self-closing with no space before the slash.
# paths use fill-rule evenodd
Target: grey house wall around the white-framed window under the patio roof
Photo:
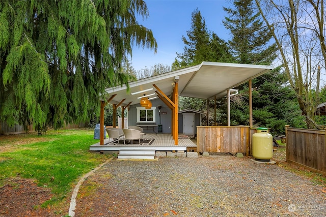
<path id="1" fill-rule="evenodd" d="M 162 125 L 162 133 L 171 133 L 171 127 L 172 127 L 172 114 L 171 114 L 171 109 L 169 109 L 164 102 L 162 102 L 160 99 L 156 100 L 151 100 L 152 107 L 156 107 L 158 105 L 162 106 L 161 108 L 161 113 L 166 113 L 166 114 L 161 114 L 159 118 L 159 112 L 158 108 L 155 110 L 155 123 L 149 123 L 149 125 L 159 125 L 159 121 L 161 122 Z M 128 112 L 128 125 L 129 126 L 137 126 L 140 125 L 141 123 L 137 123 L 137 107 L 141 106 L 139 104 L 134 104 L 130 106 L 129 112 Z M 144 124 L 144 123 L 143 123 Z M 157 130 L 157 129 L 155 129 Z"/>

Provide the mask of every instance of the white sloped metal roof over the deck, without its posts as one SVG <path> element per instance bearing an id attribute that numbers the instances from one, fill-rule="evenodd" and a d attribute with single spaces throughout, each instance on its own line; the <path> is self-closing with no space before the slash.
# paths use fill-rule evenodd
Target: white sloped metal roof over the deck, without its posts
<path id="1" fill-rule="evenodd" d="M 203 62 L 200 65 L 180 69 L 165 74 L 160 74 L 129 83 L 129 91 L 126 85 L 106 88 L 106 98 L 112 95 L 116 96 L 110 101 L 110 104 L 118 104 L 123 99 L 122 105 L 140 103 L 138 97 L 155 93 L 155 84 L 167 96 L 172 94 L 175 78 L 178 81 L 178 94 L 183 97 L 193 97 L 200 99 L 217 99 L 225 96 L 227 90 L 239 86 L 250 79 L 256 78 L 269 70 L 274 69 L 271 66 L 248 65 L 248 64 L 228 64 Z M 153 88 L 152 90 L 140 94 L 131 95 L 131 93 Z M 149 98 L 155 97 L 154 95 Z"/>

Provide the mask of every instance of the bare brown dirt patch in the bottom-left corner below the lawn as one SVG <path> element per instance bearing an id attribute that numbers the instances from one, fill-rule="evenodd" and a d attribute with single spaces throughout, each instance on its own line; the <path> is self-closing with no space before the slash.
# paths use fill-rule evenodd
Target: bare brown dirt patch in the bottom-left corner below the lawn
<path id="1" fill-rule="evenodd" d="M 12 179 L 0 188 L 0 216 L 51 216 L 40 207 L 51 199 L 50 189 L 37 187 L 33 179 Z"/>

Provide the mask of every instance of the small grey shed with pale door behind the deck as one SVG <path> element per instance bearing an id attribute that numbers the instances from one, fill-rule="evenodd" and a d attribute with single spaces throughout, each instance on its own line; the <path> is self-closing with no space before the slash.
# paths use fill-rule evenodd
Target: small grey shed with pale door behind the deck
<path id="1" fill-rule="evenodd" d="M 183 109 L 178 112 L 179 133 L 194 137 L 197 135 L 197 126 L 201 126 L 201 115 L 204 112 L 195 109 Z"/>

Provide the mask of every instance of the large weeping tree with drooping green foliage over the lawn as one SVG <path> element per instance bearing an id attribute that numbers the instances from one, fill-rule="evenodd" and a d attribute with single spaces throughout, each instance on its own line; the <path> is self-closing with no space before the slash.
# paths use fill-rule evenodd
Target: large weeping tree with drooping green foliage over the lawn
<path id="1" fill-rule="evenodd" d="M 133 44 L 156 51 L 137 14 L 142 0 L 0 0 L 0 120 L 40 131 L 98 113 Z"/>

